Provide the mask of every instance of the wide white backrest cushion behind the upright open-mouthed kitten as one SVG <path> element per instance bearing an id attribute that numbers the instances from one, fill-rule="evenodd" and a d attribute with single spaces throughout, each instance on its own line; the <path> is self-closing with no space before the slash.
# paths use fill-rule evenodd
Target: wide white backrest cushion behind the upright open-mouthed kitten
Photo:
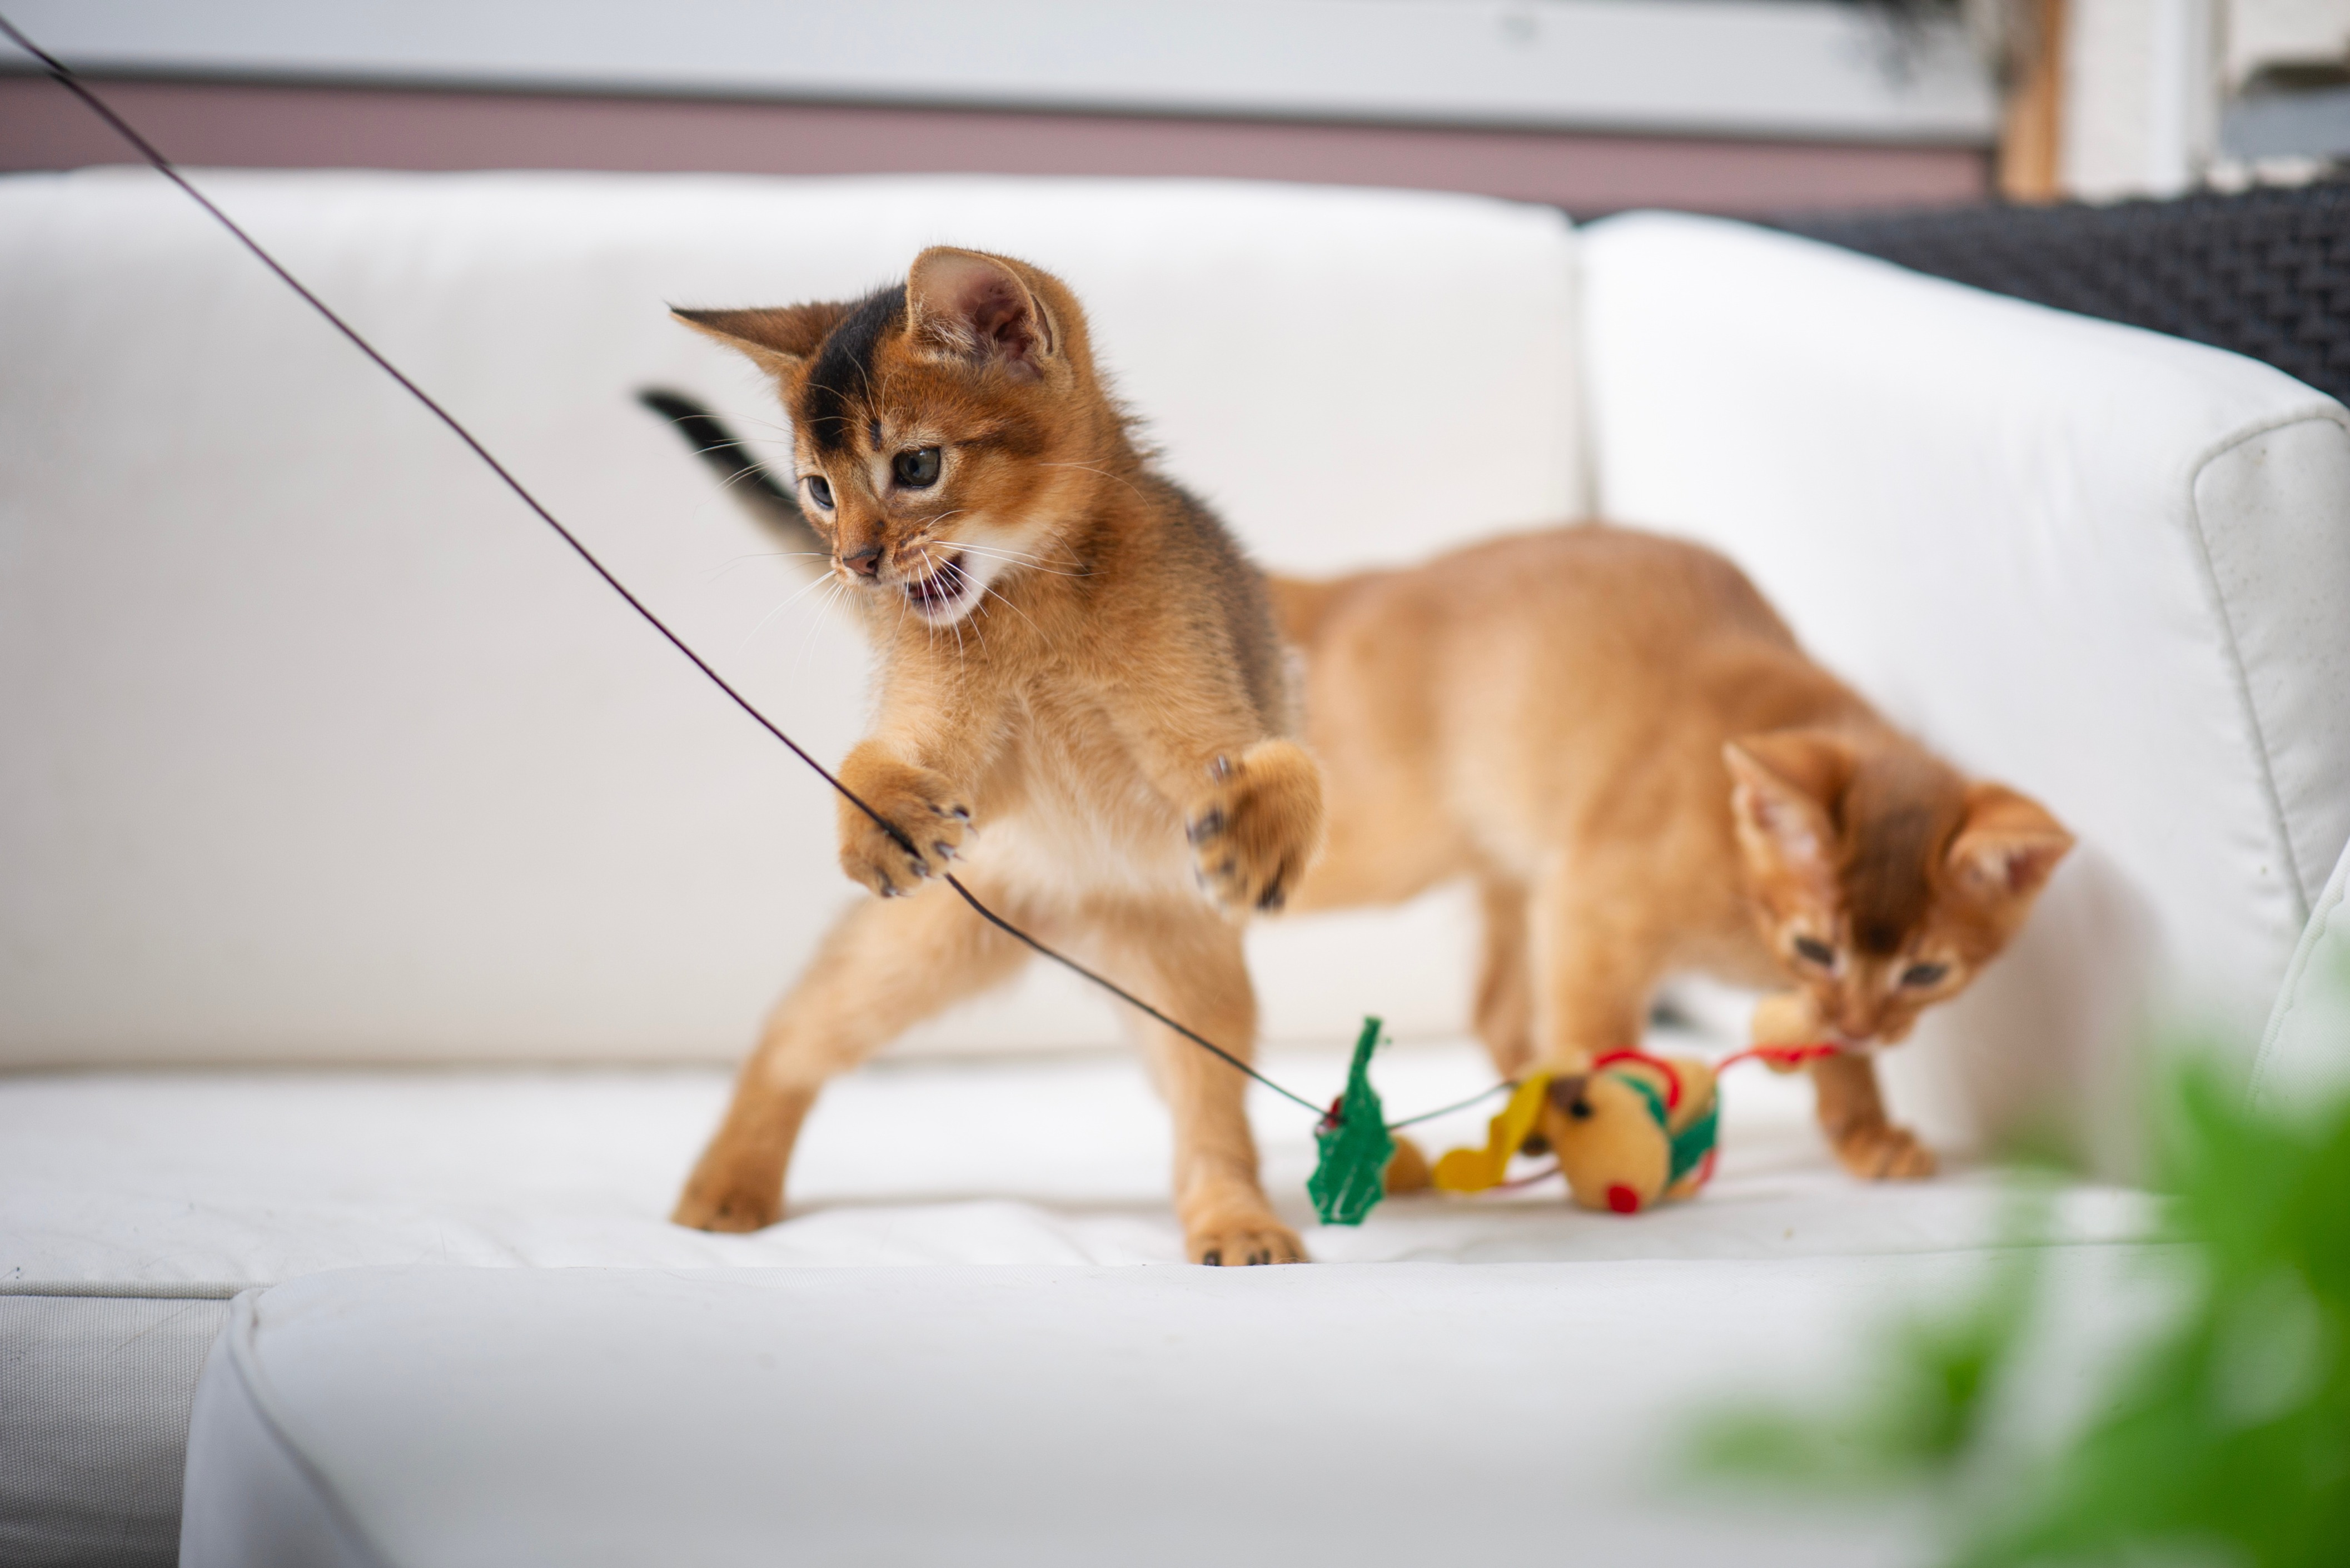
<path id="1" fill-rule="evenodd" d="M 785 451 L 750 367 L 665 301 L 853 296 L 931 242 L 1048 266 L 1170 473 L 1283 569 L 1582 494 L 1572 235 L 1544 209 L 197 179 L 820 757 L 862 722 L 862 649 L 634 407 L 677 386 Z M 0 181 L 0 1065 L 747 1046 L 855 896 L 820 780 L 153 174 Z M 1271 931 L 1269 1032 L 1455 1027 L 1466 959 L 1429 961 L 1431 933 L 1464 950 L 1426 912 Z M 1074 983 L 933 1030 L 1112 1034 Z"/>

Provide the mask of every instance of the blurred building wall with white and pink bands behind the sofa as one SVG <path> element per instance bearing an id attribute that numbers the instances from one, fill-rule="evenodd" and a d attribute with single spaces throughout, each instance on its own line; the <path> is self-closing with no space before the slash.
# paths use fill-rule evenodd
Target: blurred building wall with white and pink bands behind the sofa
<path id="1" fill-rule="evenodd" d="M 1579 216 L 2350 153 L 2350 0 L 14 0 L 197 165 L 1196 174 Z M 0 59 L 0 169 L 118 162 Z"/>

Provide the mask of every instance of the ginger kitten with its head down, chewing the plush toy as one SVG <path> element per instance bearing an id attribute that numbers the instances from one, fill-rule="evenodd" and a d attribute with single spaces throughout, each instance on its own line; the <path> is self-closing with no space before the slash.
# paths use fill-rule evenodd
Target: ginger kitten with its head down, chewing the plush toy
<path id="1" fill-rule="evenodd" d="M 1292 907 L 1473 877 L 1504 1077 L 1636 1044 L 1671 971 L 1779 990 L 1779 1039 L 1894 1044 L 2073 844 L 1885 724 L 1697 545 L 1586 524 L 1274 599 L 1330 804 Z M 1849 1171 L 1934 1168 L 1866 1053 L 1812 1074 Z"/>

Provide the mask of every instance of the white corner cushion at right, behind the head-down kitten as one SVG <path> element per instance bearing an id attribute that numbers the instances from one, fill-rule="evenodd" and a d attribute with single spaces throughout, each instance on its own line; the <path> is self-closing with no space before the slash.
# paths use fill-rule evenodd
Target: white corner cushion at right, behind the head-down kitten
<path id="1" fill-rule="evenodd" d="M 2350 416 L 2265 364 L 1741 223 L 1584 230 L 1622 522 L 2082 839 L 1904 1072 L 1983 1124 L 2127 1107 L 2157 1011 L 2258 1025 L 2350 837 Z M 2087 1128 L 2108 1154 L 2127 1117 Z"/>

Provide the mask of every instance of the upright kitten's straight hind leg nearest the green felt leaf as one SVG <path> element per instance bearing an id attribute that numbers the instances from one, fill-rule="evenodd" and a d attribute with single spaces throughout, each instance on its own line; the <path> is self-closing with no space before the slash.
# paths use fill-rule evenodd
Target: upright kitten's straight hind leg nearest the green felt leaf
<path id="1" fill-rule="evenodd" d="M 1257 1039 L 1241 931 L 1206 905 L 1130 910 L 1107 922 L 1104 964 L 1121 985 L 1243 1063 Z M 1128 1013 L 1175 1119 L 1175 1218 L 1191 1262 L 1304 1262 L 1274 1215 L 1248 1131 L 1248 1079 L 1168 1027 Z"/>

